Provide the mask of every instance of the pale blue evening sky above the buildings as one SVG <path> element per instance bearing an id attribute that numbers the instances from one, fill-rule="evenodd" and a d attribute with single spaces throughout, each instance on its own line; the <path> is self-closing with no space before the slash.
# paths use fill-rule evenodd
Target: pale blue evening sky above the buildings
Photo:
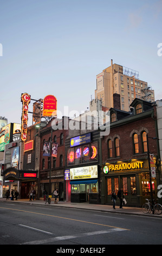
<path id="1" fill-rule="evenodd" d="M 0 0 L 0 116 L 21 123 L 22 93 L 81 114 L 111 59 L 162 99 L 161 21 L 161 0 Z"/>

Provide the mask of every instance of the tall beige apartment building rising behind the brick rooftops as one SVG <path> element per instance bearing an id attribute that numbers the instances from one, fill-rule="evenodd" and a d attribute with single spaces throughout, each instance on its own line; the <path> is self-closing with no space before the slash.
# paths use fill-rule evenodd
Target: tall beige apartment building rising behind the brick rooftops
<path id="1" fill-rule="evenodd" d="M 102 105 L 113 107 L 113 94 L 121 96 L 121 109 L 129 111 L 129 106 L 137 97 L 146 101 L 154 101 L 154 90 L 148 87 L 147 82 L 139 80 L 135 70 L 113 64 L 96 76 L 95 99 L 102 99 Z"/>

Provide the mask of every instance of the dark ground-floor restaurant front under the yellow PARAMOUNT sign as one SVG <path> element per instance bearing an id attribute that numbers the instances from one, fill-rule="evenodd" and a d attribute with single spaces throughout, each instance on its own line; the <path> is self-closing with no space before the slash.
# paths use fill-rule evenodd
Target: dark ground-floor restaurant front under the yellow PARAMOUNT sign
<path id="1" fill-rule="evenodd" d="M 152 164 L 152 167 L 154 164 Z M 157 179 L 159 172 L 156 170 L 152 176 L 153 196 L 157 195 Z M 122 187 L 127 206 L 140 207 L 146 198 L 151 197 L 150 173 L 148 171 L 148 160 L 118 161 L 115 164 L 106 163 L 102 166 L 102 203 L 111 205 L 112 191 L 116 194 Z M 119 205 L 119 199 L 116 201 Z"/>

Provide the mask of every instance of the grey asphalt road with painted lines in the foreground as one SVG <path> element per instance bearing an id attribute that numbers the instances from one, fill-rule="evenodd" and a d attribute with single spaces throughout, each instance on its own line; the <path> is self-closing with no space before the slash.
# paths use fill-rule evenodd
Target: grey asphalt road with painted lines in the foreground
<path id="1" fill-rule="evenodd" d="M 0 202 L 1 245 L 161 245 L 161 235 L 161 218 Z"/>

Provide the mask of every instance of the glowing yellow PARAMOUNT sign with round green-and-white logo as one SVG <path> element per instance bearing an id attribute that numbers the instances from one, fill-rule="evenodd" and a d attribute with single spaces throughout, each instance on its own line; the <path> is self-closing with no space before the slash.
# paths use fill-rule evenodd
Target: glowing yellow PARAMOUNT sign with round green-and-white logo
<path id="1" fill-rule="evenodd" d="M 141 169 L 143 162 L 131 162 L 131 163 L 121 163 L 121 164 L 109 164 L 108 166 L 105 166 L 103 168 L 104 170 L 107 170 L 107 173 L 110 171 L 115 170 L 131 170 L 131 169 Z M 107 167 L 107 168 L 106 168 Z M 106 173 L 106 172 L 105 172 Z"/>

